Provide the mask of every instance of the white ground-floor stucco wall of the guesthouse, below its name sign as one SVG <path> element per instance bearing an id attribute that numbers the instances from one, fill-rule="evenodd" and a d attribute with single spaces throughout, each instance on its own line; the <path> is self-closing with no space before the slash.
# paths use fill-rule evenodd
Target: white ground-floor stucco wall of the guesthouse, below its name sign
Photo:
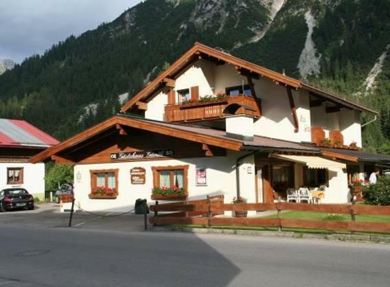
<path id="1" fill-rule="evenodd" d="M 189 165 L 188 168 L 188 199 L 206 199 L 207 195 L 225 196 L 225 203 L 231 203 L 236 196 L 236 160 L 242 152 L 227 152 L 226 157 L 202 157 L 193 159 L 169 159 L 162 161 L 131 161 L 124 163 L 98 163 L 76 165 L 74 168 L 74 192 L 76 205 L 87 211 L 113 211 L 124 212 L 133 209 L 135 200 L 146 198 L 148 203 L 154 203 L 150 198 L 153 188 L 153 166 Z M 207 185 L 196 185 L 196 166 L 203 165 L 207 169 Z M 134 185 L 130 182 L 132 168 L 146 170 L 144 185 Z M 249 168 L 251 167 L 251 168 Z M 118 196 L 115 199 L 90 199 L 91 174 L 90 170 L 119 169 Z M 248 172 L 249 171 L 249 172 Z M 250 202 L 254 200 L 255 167 L 254 159 L 244 159 L 240 167 L 240 182 L 242 183 L 242 196 Z"/>

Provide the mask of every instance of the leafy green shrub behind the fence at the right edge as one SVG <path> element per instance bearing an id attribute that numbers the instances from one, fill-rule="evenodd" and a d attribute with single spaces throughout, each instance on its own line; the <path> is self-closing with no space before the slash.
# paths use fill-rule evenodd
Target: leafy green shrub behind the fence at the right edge
<path id="1" fill-rule="evenodd" d="M 376 184 L 363 189 L 363 198 L 369 205 L 390 205 L 390 179 L 380 176 Z"/>

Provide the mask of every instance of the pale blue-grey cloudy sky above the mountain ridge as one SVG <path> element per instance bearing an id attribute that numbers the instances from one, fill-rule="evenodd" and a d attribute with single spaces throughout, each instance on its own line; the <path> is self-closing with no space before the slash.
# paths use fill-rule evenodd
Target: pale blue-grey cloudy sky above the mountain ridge
<path id="1" fill-rule="evenodd" d="M 22 62 L 111 22 L 140 0 L 0 0 L 0 58 Z"/>

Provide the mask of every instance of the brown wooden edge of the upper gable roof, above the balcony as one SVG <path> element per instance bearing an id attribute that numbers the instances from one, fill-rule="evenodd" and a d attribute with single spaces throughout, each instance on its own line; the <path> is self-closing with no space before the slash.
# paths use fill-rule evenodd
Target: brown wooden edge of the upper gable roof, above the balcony
<path id="1" fill-rule="evenodd" d="M 371 108 L 367 108 L 365 106 L 361 106 L 360 104 L 356 104 L 352 101 L 346 100 L 345 98 L 339 97 L 332 93 L 328 93 L 327 91 L 322 91 L 320 89 L 314 88 L 309 84 L 305 84 L 300 80 L 290 78 L 288 76 L 283 75 L 282 73 L 277 73 L 276 71 L 272 71 L 270 69 L 266 69 L 259 65 L 255 65 L 252 62 L 248 62 L 246 60 L 242 60 L 231 54 L 227 54 L 224 51 L 220 51 L 218 49 L 214 49 L 208 47 L 207 45 L 203 45 L 200 43 L 195 43 L 195 45 L 190 48 L 188 51 L 183 54 L 178 60 L 176 60 L 168 69 L 163 71 L 157 76 L 152 82 L 150 82 L 144 89 L 139 91 L 137 95 L 135 95 L 132 99 L 130 99 L 124 106 L 122 106 L 122 111 L 129 111 L 133 106 L 142 100 L 146 100 L 150 95 L 156 93 L 164 87 L 164 79 L 165 78 L 175 78 L 185 67 L 192 64 L 195 60 L 198 59 L 198 55 L 205 54 L 207 56 L 213 57 L 217 60 L 222 60 L 231 65 L 235 65 L 241 69 L 246 69 L 253 73 L 257 73 L 266 78 L 270 78 L 271 80 L 275 80 L 276 82 L 286 84 L 294 89 L 304 89 L 309 93 L 314 93 L 319 97 L 323 97 L 326 100 L 331 100 L 332 102 L 336 102 L 341 104 L 342 106 L 347 106 L 348 108 L 353 108 L 357 111 L 364 111 L 366 113 L 378 114 L 377 111 L 372 110 Z"/>

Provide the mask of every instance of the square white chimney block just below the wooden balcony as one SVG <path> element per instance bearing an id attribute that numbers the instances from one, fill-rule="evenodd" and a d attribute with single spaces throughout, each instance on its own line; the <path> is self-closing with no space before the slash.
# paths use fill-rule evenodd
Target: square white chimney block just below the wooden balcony
<path id="1" fill-rule="evenodd" d="M 253 141 L 253 117 L 233 115 L 225 119 L 226 135 L 232 139 Z"/>

